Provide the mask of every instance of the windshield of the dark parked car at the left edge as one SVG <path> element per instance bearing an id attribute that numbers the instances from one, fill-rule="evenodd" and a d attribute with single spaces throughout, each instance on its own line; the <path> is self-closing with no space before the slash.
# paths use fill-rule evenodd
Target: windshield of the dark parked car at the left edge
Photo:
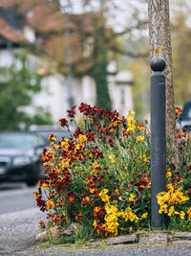
<path id="1" fill-rule="evenodd" d="M 32 134 L 2 133 L 0 134 L 0 149 L 32 149 Z"/>

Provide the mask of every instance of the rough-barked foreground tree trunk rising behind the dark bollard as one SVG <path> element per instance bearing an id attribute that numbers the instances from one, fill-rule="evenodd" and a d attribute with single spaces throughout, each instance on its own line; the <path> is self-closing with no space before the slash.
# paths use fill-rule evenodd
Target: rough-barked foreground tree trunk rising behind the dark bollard
<path id="1" fill-rule="evenodd" d="M 174 152 L 174 164 L 178 165 L 178 144 L 176 138 L 175 98 L 173 85 L 173 63 L 170 36 L 169 1 L 148 1 L 150 57 L 159 55 L 166 61 L 166 137 L 170 139 Z"/>

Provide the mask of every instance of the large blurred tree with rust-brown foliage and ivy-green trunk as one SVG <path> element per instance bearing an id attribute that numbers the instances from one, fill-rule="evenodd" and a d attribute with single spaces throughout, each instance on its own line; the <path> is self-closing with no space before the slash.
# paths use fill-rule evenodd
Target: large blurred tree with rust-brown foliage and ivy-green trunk
<path id="1" fill-rule="evenodd" d="M 133 35 L 135 31 L 138 36 L 145 29 L 146 21 L 138 14 L 136 5 L 133 6 L 131 1 L 127 1 L 119 5 L 119 13 L 121 15 L 127 8 L 129 18 L 123 27 L 120 26 L 116 30 L 108 22 L 109 17 L 117 12 L 116 1 L 81 0 L 79 2 L 80 8 L 76 11 L 74 0 L 10 0 L 9 4 L 3 0 L 7 8 L 13 8 L 18 12 L 24 17 L 26 24 L 35 31 L 36 42 L 35 45 L 31 45 L 35 47 L 31 47 L 31 50 L 33 52 L 37 50 L 42 56 L 49 57 L 52 67 L 64 76 L 92 76 L 96 81 L 96 103 L 100 104 L 100 107 L 110 107 L 107 62 L 114 57 L 114 54 L 132 58 L 146 56 L 142 49 L 127 50 L 117 43 L 118 38 L 123 35 L 126 35 L 126 40 L 128 37 L 135 37 Z M 113 16 L 110 21 L 114 20 Z M 29 47 L 29 44 L 23 43 L 23 46 Z M 102 68 L 98 68 L 99 63 Z M 98 100 L 105 95 L 107 95 L 105 101 Z"/>

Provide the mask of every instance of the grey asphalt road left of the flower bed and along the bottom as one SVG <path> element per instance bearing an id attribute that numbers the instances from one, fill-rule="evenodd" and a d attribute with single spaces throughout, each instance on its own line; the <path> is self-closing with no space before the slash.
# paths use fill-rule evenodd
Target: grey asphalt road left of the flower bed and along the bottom
<path id="1" fill-rule="evenodd" d="M 24 184 L 0 185 L 0 255 L 9 256 L 37 256 L 37 255 L 75 255 L 75 256 L 191 256 L 191 245 L 165 245 L 119 247 L 66 251 L 61 247 L 42 247 L 42 244 L 34 243 L 36 235 L 40 232 L 38 222 L 45 219 L 32 198 L 32 192 L 36 187 L 28 188 Z"/>

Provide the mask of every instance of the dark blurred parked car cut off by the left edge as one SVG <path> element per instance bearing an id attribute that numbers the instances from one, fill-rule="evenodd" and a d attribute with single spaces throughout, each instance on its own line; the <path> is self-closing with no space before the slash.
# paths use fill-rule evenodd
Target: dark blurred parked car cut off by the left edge
<path id="1" fill-rule="evenodd" d="M 35 185 L 43 174 L 45 141 L 35 132 L 0 132 L 0 182 L 25 181 Z"/>

